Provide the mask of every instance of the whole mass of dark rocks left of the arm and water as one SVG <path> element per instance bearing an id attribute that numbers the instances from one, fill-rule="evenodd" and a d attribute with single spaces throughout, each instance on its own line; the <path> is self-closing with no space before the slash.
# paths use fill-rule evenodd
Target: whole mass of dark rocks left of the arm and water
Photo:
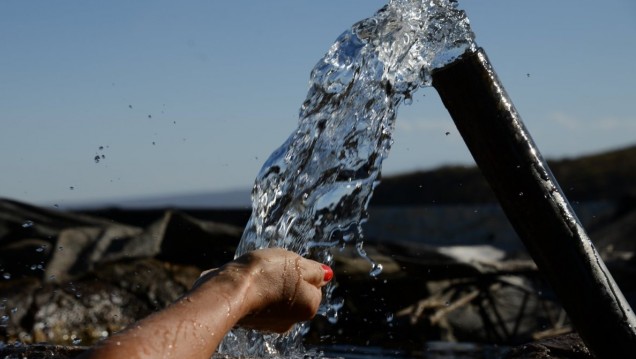
<path id="1" fill-rule="evenodd" d="M 91 345 L 229 261 L 241 232 L 171 211 L 140 228 L 0 200 L 0 342 Z"/>

